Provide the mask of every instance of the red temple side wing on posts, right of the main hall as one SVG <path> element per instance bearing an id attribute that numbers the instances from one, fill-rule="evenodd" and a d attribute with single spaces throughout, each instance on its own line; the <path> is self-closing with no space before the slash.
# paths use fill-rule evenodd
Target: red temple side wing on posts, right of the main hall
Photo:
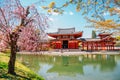
<path id="1" fill-rule="evenodd" d="M 96 39 L 84 39 L 82 40 L 82 50 L 114 50 L 115 38 L 112 34 L 101 33 Z"/>

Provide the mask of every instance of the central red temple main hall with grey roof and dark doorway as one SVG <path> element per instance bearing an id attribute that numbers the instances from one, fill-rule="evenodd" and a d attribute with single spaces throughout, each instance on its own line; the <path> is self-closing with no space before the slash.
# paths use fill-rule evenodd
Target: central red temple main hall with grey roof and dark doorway
<path id="1" fill-rule="evenodd" d="M 77 38 L 82 36 L 82 32 L 76 32 L 75 28 L 58 29 L 58 32 L 48 33 L 49 36 L 55 38 L 50 41 L 54 49 L 78 49 L 80 40 Z"/>

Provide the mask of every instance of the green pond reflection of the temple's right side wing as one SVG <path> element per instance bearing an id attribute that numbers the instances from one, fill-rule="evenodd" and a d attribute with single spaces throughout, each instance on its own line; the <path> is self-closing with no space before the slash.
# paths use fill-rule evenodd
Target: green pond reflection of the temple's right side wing
<path id="1" fill-rule="evenodd" d="M 116 66 L 114 55 L 84 55 L 84 64 L 99 64 L 101 71 L 113 70 Z"/>

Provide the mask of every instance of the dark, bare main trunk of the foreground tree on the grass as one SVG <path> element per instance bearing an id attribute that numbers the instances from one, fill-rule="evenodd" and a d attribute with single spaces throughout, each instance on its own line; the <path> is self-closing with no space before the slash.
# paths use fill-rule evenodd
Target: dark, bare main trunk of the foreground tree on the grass
<path id="1" fill-rule="evenodd" d="M 12 33 L 10 35 L 10 47 L 11 47 L 11 54 L 10 54 L 10 60 L 8 63 L 8 73 L 15 75 L 15 61 L 16 61 L 16 52 L 17 52 L 17 35 L 15 33 Z"/>

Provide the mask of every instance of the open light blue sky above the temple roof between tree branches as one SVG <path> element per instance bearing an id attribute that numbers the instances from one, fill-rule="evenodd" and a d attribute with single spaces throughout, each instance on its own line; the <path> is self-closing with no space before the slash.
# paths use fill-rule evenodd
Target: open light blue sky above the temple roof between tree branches
<path id="1" fill-rule="evenodd" d="M 46 32 L 57 32 L 58 28 L 73 28 L 77 31 L 83 31 L 83 38 L 91 38 L 93 28 L 86 28 L 85 26 L 90 25 L 80 12 L 76 12 L 75 6 L 70 5 L 65 8 L 62 15 L 53 13 L 48 15 L 47 11 L 43 10 L 41 6 L 47 6 L 50 2 L 56 2 L 56 5 L 62 5 L 65 0 L 46 0 L 44 3 L 38 2 L 39 0 L 20 0 L 23 6 L 35 4 L 38 11 L 45 13 L 50 19 L 50 27 L 46 29 Z"/>

